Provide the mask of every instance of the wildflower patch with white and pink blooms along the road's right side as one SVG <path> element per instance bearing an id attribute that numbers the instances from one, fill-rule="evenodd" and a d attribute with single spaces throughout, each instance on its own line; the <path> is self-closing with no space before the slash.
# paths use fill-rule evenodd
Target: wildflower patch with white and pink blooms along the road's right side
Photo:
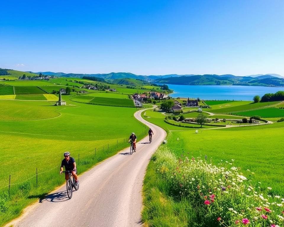
<path id="1" fill-rule="evenodd" d="M 161 146 L 152 156 L 152 167 L 159 183 L 158 189 L 144 191 L 142 219 L 149 226 L 284 226 L 284 198 L 273 194 L 272 186 L 261 191 L 261 182 L 251 185 L 234 160 L 213 165 L 207 157 L 178 158 Z M 155 190 L 158 209 L 151 207 Z M 171 224 L 167 218 L 155 217 L 167 213 Z"/>

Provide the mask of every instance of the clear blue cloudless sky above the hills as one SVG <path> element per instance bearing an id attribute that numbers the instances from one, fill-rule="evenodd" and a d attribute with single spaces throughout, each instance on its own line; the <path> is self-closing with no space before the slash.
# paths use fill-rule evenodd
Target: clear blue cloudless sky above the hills
<path id="1" fill-rule="evenodd" d="M 284 76 L 284 1 L 2 1 L 0 67 Z"/>

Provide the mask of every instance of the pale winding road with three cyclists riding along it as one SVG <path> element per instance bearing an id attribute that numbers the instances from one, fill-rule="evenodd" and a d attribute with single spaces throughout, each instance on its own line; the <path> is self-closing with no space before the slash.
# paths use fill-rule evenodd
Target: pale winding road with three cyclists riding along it
<path id="1" fill-rule="evenodd" d="M 140 226 L 146 167 L 166 137 L 162 128 L 141 117 L 142 111 L 144 109 L 135 112 L 134 116 L 153 129 L 151 145 L 148 136 L 143 138 L 133 155 L 129 155 L 126 148 L 79 176 L 80 188 L 73 192 L 71 200 L 67 198 L 64 184 L 6 226 Z"/>

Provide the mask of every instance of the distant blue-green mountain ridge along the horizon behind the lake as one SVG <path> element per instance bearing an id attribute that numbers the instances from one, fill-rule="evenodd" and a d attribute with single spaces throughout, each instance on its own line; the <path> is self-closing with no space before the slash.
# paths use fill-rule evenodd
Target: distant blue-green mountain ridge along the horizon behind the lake
<path id="1" fill-rule="evenodd" d="M 33 72 L 31 72 L 33 73 Z M 244 85 L 244 86 L 284 86 L 284 77 L 279 74 L 256 74 L 249 76 L 235 76 L 232 74 L 167 74 L 167 75 L 136 75 L 130 72 L 111 72 L 106 74 L 76 74 L 63 72 L 36 72 L 35 74 L 54 75 L 59 77 L 101 77 L 115 83 L 134 85 L 137 79 L 154 83 L 180 84 L 180 85 Z M 125 80 L 121 80 L 125 79 Z"/>

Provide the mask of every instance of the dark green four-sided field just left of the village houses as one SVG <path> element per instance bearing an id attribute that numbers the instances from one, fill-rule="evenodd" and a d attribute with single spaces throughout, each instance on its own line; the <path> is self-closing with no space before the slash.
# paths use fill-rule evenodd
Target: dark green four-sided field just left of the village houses
<path id="1" fill-rule="evenodd" d="M 132 99 L 121 99 L 121 98 L 103 98 L 94 97 L 90 104 L 103 105 L 103 106 L 123 106 L 123 107 L 134 107 Z"/>

